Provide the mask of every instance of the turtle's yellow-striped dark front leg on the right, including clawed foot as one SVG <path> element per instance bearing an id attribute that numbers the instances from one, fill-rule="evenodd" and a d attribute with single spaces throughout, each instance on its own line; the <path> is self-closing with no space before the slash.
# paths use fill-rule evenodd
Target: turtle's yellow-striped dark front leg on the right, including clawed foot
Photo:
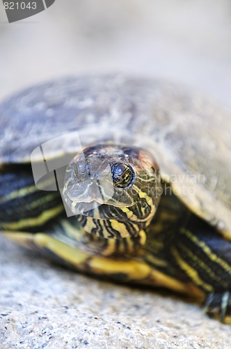
<path id="1" fill-rule="evenodd" d="M 192 217 L 170 246 L 173 264 L 205 292 L 205 313 L 231 324 L 231 242 Z"/>

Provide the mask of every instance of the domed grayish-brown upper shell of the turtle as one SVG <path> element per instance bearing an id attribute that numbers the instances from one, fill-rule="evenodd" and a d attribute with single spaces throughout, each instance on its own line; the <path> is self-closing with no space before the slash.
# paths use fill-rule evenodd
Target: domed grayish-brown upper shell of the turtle
<path id="1" fill-rule="evenodd" d="M 173 193 L 231 239 L 231 112 L 178 84 L 124 75 L 70 77 L 26 89 L 0 105 L 0 162 L 47 160 L 99 142 L 148 149 Z M 66 135 L 66 142 L 59 137 Z M 39 160 L 39 157 L 38 157 Z"/>

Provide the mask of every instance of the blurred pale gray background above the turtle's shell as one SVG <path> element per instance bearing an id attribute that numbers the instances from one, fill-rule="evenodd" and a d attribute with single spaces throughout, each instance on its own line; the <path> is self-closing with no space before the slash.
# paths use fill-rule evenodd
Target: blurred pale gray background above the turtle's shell
<path id="1" fill-rule="evenodd" d="M 0 99 L 63 75 L 125 71 L 184 82 L 231 106 L 229 0 L 56 0 L 8 24 L 0 9 Z"/>

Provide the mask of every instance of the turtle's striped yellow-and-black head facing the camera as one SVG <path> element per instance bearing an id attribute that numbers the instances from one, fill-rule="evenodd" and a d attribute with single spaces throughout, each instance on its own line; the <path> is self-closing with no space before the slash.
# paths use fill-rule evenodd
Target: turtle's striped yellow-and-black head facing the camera
<path id="1" fill-rule="evenodd" d="M 136 237 L 157 210 L 159 168 L 138 147 L 87 147 L 67 166 L 63 196 L 86 232 L 103 238 Z"/>

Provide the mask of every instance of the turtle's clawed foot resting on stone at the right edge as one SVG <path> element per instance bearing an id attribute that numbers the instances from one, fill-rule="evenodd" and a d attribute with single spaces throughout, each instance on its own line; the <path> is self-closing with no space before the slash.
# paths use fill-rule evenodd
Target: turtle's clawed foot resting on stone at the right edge
<path id="1" fill-rule="evenodd" d="M 205 313 L 210 318 L 231 324 L 231 292 L 209 293 L 205 302 Z"/>

